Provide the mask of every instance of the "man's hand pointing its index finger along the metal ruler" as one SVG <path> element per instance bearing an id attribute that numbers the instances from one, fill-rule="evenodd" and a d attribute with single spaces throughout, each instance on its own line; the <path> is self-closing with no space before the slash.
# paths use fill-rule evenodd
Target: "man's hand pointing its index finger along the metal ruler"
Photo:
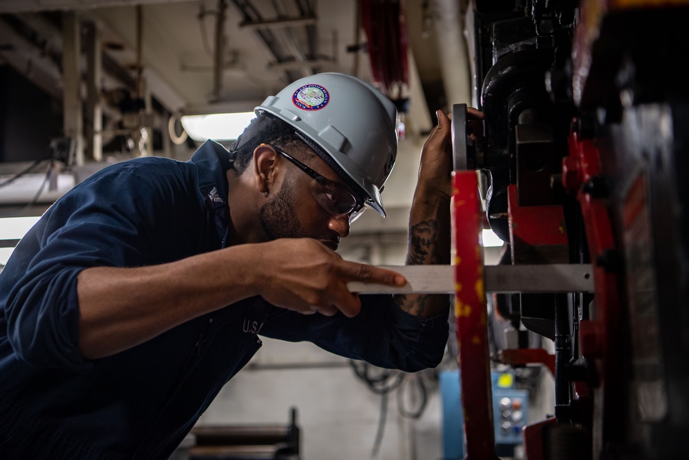
<path id="1" fill-rule="evenodd" d="M 401 274 L 364 263 L 342 260 L 339 254 L 313 239 L 278 239 L 264 243 L 260 262 L 270 270 L 260 295 L 274 306 L 303 314 L 347 317 L 361 310 L 349 281 L 404 286 Z"/>

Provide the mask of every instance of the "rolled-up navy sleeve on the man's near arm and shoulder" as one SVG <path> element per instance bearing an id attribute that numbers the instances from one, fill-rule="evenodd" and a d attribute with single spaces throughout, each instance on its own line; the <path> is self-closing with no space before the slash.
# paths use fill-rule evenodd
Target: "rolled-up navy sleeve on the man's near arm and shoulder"
<path id="1" fill-rule="evenodd" d="M 137 173 L 139 163 L 110 166 L 59 199 L 19 242 L 0 282 L 8 341 L 34 366 L 79 372 L 79 272 L 150 261 L 153 215 L 161 212 L 163 175 Z M 173 174 L 174 177 L 174 174 Z"/>

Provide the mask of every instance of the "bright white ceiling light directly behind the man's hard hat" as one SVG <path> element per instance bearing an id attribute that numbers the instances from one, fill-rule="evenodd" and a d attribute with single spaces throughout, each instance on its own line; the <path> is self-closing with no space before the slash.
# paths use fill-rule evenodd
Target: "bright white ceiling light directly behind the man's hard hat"
<path id="1" fill-rule="evenodd" d="M 194 141 L 234 141 L 251 119 L 254 112 L 214 113 L 205 115 L 184 115 L 180 121 L 182 127 Z"/>

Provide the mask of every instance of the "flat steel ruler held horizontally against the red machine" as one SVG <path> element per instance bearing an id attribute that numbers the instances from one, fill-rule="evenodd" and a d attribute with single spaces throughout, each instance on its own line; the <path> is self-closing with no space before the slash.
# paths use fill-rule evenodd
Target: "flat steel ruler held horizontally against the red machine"
<path id="1" fill-rule="evenodd" d="M 360 294 L 454 294 L 455 267 L 449 265 L 381 266 L 402 274 L 407 284 L 395 288 L 382 284 L 347 283 Z M 593 292 L 590 264 L 484 266 L 485 292 Z M 461 281 L 460 281 L 461 283 Z"/>

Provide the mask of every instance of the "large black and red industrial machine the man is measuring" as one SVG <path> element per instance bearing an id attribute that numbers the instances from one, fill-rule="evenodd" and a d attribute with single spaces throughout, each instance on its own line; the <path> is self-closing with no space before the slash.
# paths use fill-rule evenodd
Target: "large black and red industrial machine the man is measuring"
<path id="1" fill-rule="evenodd" d="M 468 139 L 453 106 L 439 281 L 454 286 L 467 459 L 497 458 L 491 361 L 553 372 L 553 417 L 522 431 L 528 460 L 686 458 L 688 3 L 470 2 L 485 136 Z M 498 266 L 483 263 L 486 226 L 508 243 Z M 491 348 L 486 299 L 554 354 Z"/>

